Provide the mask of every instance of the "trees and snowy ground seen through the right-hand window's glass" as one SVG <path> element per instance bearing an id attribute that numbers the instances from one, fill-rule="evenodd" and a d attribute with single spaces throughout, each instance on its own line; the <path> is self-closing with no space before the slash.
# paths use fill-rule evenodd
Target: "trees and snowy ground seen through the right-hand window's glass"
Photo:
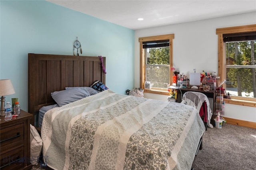
<path id="1" fill-rule="evenodd" d="M 255 41 L 236 41 L 225 44 L 226 79 L 228 80 L 226 91 L 232 96 L 256 98 Z"/>

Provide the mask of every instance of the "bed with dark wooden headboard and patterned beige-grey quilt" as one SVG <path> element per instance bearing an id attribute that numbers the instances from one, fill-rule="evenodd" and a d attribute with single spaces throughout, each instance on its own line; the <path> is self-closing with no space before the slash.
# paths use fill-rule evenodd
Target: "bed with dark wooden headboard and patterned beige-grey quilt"
<path id="1" fill-rule="evenodd" d="M 99 57 L 28 54 L 28 62 L 34 122 L 41 107 L 62 102 L 52 92 L 105 83 Z M 50 109 L 41 129 L 44 161 L 56 170 L 190 169 L 203 133 L 192 106 L 111 89 Z"/>

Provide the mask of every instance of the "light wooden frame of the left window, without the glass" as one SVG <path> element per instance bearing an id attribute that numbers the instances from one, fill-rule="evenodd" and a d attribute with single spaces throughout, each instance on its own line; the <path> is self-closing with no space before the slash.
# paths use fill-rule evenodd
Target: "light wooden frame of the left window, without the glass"
<path id="1" fill-rule="evenodd" d="M 172 55 L 172 40 L 174 39 L 174 34 L 166 34 L 166 35 L 156 35 L 150 37 L 140 37 L 140 88 L 144 89 L 144 84 L 146 81 L 146 59 L 145 59 L 145 50 L 143 49 L 142 42 L 145 41 L 158 41 L 158 40 L 166 40 L 169 39 L 169 47 L 170 47 L 170 68 L 173 67 L 173 55 Z M 170 69 L 170 82 L 172 82 L 172 74 L 173 71 Z M 144 89 L 146 93 L 153 93 L 153 94 L 163 94 L 163 95 L 170 95 L 167 88 L 154 88 L 154 89 Z"/>

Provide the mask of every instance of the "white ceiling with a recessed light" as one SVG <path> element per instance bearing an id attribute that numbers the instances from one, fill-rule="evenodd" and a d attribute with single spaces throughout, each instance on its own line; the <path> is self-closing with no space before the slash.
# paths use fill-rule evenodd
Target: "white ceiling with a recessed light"
<path id="1" fill-rule="evenodd" d="M 256 11 L 256 0 L 47 1 L 134 30 Z"/>

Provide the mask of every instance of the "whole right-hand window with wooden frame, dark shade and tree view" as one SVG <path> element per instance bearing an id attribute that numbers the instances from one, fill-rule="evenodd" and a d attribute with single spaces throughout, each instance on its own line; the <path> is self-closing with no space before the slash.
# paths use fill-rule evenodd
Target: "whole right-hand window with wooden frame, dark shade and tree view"
<path id="1" fill-rule="evenodd" d="M 216 29 L 218 74 L 232 100 L 256 107 L 256 24 Z"/>

